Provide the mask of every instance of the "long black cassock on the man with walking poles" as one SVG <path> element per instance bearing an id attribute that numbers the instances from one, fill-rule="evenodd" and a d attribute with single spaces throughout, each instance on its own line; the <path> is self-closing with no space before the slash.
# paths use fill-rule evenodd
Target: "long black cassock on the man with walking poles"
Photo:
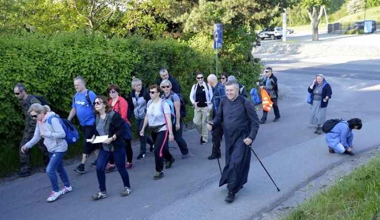
<path id="1" fill-rule="evenodd" d="M 214 126 L 220 126 L 223 122 L 225 139 L 225 166 L 219 187 L 227 184 L 229 192 L 237 193 L 248 179 L 251 149 L 243 140 L 256 138 L 259 127 L 256 110 L 252 102 L 243 96 L 239 95 L 234 101 L 225 97 L 212 122 Z"/>

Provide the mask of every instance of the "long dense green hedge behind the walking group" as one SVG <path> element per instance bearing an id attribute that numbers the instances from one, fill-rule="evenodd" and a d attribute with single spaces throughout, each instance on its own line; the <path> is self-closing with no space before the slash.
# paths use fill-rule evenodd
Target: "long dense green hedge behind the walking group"
<path id="1" fill-rule="evenodd" d="M 118 84 L 121 95 L 127 98 L 132 76 L 140 78 L 147 87 L 157 82 L 161 68 L 167 68 L 169 74 L 180 82 L 181 93 L 188 101 L 191 86 L 196 83 L 196 71 L 204 72 L 205 76 L 215 73 L 212 39 L 206 37 L 201 41 L 199 38 L 192 43 L 174 39 L 151 41 L 139 36 L 107 39 L 100 33 L 85 34 L 81 31 L 50 37 L 39 34 L 1 35 L 0 86 L 3 90 L 0 91 L 0 136 L 3 138 L 0 140 L 0 175 L 19 168 L 18 148 L 24 119 L 13 93 L 14 85 L 25 84 L 29 94 L 44 96 L 53 111 L 67 117 L 75 93 L 73 79 L 76 76 L 83 76 L 86 87 L 98 95 L 107 95 L 108 85 Z M 211 44 L 211 49 L 200 50 L 200 44 Z M 225 66 L 227 71 L 238 73 L 243 84 L 260 72 L 254 63 L 238 64 L 236 62 L 240 61 L 225 58 L 220 62 L 219 72 Z M 191 120 L 194 113 L 190 105 L 187 110 L 186 119 Z M 76 117 L 73 121 L 79 128 Z M 79 143 L 69 146 L 66 157 L 81 153 L 82 144 Z M 41 155 L 34 148 L 31 159 L 32 165 L 42 165 Z"/>

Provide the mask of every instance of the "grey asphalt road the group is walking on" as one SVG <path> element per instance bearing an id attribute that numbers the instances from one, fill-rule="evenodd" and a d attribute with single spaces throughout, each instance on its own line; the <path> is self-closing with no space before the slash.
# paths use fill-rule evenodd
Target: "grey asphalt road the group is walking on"
<path id="1" fill-rule="evenodd" d="M 380 35 L 379 35 L 380 36 Z M 380 41 L 380 40 L 379 40 Z M 181 159 L 176 144 L 170 151 L 176 157 L 172 168 L 164 169 L 164 178 L 155 181 L 153 153 L 137 160 L 139 146 L 134 145 L 135 167 L 129 170 L 132 193 L 121 197 L 123 185 L 118 172 L 106 174 L 108 197 L 93 201 L 98 190 L 96 170 L 86 166 L 86 173 L 73 171 L 78 162 L 65 165 L 73 191 L 55 202 L 46 201 L 51 185 L 46 173 L 37 172 L 26 178 L 10 178 L 0 185 L 2 219 L 255 219 L 292 198 L 295 192 L 321 177 L 326 171 L 371 152 L 380 146 L 378 139 L 378 95 L 380 81 L 373 76 L 360 76 L 357 70 L 345 70 L 355 62 L 358 69 L 380 67 L 380 57 L 324 57 L 305 55 L 255 55 L 274 68 L 279 80 L 281 119 L 260 125 L 253 149 L 281 191 L 277 191 L 268 174 L 252 154 L 248 183 L 236 194 L 233 203 L 224 201 L 225 186 L 218 187 L 220 172 L 217 160 L 208 160 L 209 143 L 201 145 L 196 129 L 184 132 L 189 158 Z M 369 60 L 369 61 L 368 61 Z M 330 70 L 321 69 L 329 65 Z M 340 65 L 340 66 L 339 66 Z M 343 66 L 341 66 L 343 65 Z M 335 73 L 342 69 L 346 75 Z M 297 70 L 297 71 L 296 71 Z M 309 71 L 311 70 L 311 71 Z M 322 72 L 323 71 L 323 72 Z M 307 87 L 315 72 L 326 75 L 333 96 L 327 118 L 359 117 L 363 128 L 355 130 L 356 156 L 329 154 L 323 135 L 314 134 L 309 124 L 310 106 L 306 103 Z M 372 78 L 371 78 L 372 77 Z M 246 86 L 249 87 L 249 86 Z M 262 110 L 258 112 L 259 117 Z M 222 142 L 222 152 L 224 141 Z M 224 165 L 224 153 L 220 163 Z M 95 159 L 92 156 L 89 162 Z M 88 163 L 89 163 L 88 162 Z M 61 185 L 62 187 L 62 185 Z"/>

